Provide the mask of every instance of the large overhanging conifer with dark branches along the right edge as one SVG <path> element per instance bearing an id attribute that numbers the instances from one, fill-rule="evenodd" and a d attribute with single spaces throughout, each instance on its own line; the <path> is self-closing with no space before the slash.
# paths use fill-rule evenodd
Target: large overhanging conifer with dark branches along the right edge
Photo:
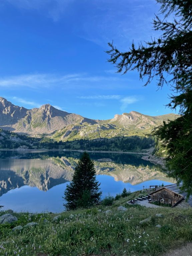
<path id="1" fill-rule="evenodd" d="M 182 184 L 182 189 L 192 194 L 192 1 L 156 0 L 160 13 L 153 20 L 159 38 L 151 39 L 138 47 L 132 44 L 127 52 L 121 52 L 109 43 L 109 62 L 117 72 L 137 70 L 145 85 L 156 79 L 158 87 L 168 84 L 172 90 L 171 109 L 180 109 L 180 117 L 163 122 L 156 135 L 167 149 L 169 176 Z M 173 18 L 167 20 L 168 16 Z"/>

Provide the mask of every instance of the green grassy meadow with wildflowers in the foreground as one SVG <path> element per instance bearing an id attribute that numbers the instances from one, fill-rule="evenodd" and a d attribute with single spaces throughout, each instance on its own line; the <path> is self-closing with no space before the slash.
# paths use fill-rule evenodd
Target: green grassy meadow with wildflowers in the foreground
<path id="1" fill-rule="evenodd" d="M 55 222 L 53 217 L 58 214 L 14 213 L 18 221 L 0 225 L 0 255 L 157 256 L 192 241 L 191 208 L 146 208 L 126 203 L 141 195 L 139 191 L 134 192 L 108 207 L 63 212 Z M 118 211 L 120 205 L 128 210 Z M 106 214 L 106 210 L 112 212 Z M 4 213 L 1 211 L 0 215 Z M 163 218 L 156 217 L 158 213 L 163 214 Z M 140 223 L 150 216 L 149 222 Z M 12 231 L 15 226 L 29 222 L 38 224 Z M 161 228 L 156 227 L 158 224 Z"/>

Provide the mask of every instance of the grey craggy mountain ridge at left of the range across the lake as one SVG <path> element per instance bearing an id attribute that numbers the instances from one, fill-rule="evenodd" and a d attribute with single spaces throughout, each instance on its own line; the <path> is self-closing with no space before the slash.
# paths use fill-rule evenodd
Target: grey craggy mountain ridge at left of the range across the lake
<path id="1" fill-rule="evenodd" d="M 50 134 L 74 124 L 95 124 L 97 121 L 58 110 L 50 104 L 26 109 L 0 97 L 0 128 L 30 135 Z"/>

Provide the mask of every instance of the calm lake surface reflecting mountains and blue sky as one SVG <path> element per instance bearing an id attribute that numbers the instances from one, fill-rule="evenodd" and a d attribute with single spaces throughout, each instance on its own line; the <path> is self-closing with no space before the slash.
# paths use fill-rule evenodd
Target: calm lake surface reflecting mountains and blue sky
<path id="1" fill-rule="evenodd" d="M 102 198 L 123 188 L 172 184 L 161 169 L 140 155 L 89 153 L 95 162 Z M 75 151 L 0 151 L 0 205 L 17 212 L 61 212 L 63 192 L 80 157 Z M 108 159 L 108 160 L 107 160 Z"/>

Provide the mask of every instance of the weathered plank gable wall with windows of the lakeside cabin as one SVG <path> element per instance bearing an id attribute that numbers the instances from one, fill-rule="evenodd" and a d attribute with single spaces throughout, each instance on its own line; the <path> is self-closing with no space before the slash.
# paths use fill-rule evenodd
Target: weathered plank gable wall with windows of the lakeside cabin
<path id="1" fill-rule="evenodd" d="M 151 194 L 152 201 L 171 204 L 171 206 L 177 203 L 181 198 L 183 197 L 165 188 L 159 191 L 155 191 L 153 194 Z"/>

